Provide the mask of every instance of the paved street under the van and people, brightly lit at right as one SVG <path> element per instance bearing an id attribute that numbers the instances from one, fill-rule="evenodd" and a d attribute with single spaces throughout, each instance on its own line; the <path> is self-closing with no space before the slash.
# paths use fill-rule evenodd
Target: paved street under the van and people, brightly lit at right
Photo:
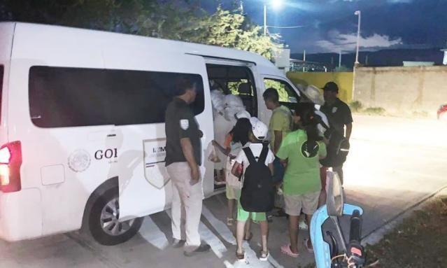
<path id="1" fill-rule="evenodd" d="M 447 125 L 367 115 L 356 115 L 354 120 L 345 189 L 348 201 L 364 208 L 366 236 L 447 185 Z M 200 232 L 212 251 L 193 258 L 169 247 L 170 220 L 162 212 L 147 217 L 139 235 L 118 246 L 100 246 L 83 232 L 18 243 L 0 241 L 0 267 L 297 267 L 313 260 L 302 245 L 298 259 L 281 254 L 279 247 L 288 241 L 287 222 L 274 218 L 269 262 L 255 257 L 260 250 L 257 225 L 252 228 L 253 240 L 246 244 L 249 263 L 235 262 L 235 240 L 225 218 L 225 196 L 206 199 Z M 301 234 L 299 241 L 308 236 Z"/>

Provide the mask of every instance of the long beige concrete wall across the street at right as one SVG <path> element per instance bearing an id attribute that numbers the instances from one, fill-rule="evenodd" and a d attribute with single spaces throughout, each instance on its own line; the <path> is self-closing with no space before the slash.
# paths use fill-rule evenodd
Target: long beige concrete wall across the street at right
<path id="1" fill-rule="evenodd" d="M 447 103 L 447 66 L 358 67 L 354 100 L 390 113 L 435 113 Z"/>

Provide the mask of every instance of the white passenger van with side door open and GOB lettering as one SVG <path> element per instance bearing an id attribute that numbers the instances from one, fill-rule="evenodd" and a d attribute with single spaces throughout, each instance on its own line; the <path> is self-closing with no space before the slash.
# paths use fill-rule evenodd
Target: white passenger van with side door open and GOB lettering
<path id="1" fill-rule="evenodd" d="M 0 238 L 85 224 L 99 243 L 126 241 L 171 203 L 164 110 L 180 75 L 197 82 L 204 195 L 215 192 L 210 84 L 268 122 L 262 92 L 298 90 L 250 52 L 104 31 L 0 23 Z M 265 85 L 264 85 L 265 84 Z"/>

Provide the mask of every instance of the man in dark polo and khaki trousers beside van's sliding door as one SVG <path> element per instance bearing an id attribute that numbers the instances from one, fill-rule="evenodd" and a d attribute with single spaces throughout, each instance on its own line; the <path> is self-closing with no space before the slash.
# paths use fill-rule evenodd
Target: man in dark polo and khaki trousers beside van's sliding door
<path id="1" fill-rule="evenodd" d="M 203 199 L 199 169 L 202 133 L 189 106 L 196 94 L 196 87 L 190 79 L 179 78 L 176 97 L 167 106 L 165 114 L 165 161 L 173 190 L 173 246 L 184 244 L 184 254 L 188 257 L 210 249 L 208 244 L 201 244 L 199 235 Z"/>

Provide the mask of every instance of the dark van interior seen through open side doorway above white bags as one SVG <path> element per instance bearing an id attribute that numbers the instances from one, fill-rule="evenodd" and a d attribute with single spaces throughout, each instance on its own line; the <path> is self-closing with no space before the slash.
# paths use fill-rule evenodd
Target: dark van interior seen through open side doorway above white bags
<path id="1" fill-rule="evenodd" d="M 257 116 L 256 85 L 253 73 L 245 66 L 206 64 L 211 90 L 241 97 L 251 115 Z"/>

